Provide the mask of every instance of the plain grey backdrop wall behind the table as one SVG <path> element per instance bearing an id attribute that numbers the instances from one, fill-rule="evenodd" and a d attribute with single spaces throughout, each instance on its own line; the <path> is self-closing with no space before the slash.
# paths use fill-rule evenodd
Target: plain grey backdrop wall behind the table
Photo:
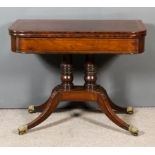
<path id="1" fill-rule="evenodd" d="M 24 108 L 46 100 L 59 83 L 60 57 L 15 54 L 9 25 L 16 19 L 142 19 L 146 50 L 140 55 L 97 56 L 98 83 L 119 105 L 155 106 L 155 8 L 0 8 L 0 108 Z M 83 84 L 83 56 L 75 84 Z"/>

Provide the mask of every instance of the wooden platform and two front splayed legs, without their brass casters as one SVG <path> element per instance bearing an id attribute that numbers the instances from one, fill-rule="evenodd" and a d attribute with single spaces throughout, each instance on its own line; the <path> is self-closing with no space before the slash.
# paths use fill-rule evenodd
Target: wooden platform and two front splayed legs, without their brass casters
<path id="1" fill-rule="evenodd" d="M 104 94 L 100 88 L 101 87 L 96 87 L 96 89 L 89 91 L 85 87 L 74 86 L 72 90 L 66 91 L 60 86 L 57 91 L 52 93 L 46 107 L 41 109 L 42 113 L 34 121 L 27 124 L 28 129 L 37 126 L 47 119 L 56 109 L 56 105 L 58 105 L 58 102 L 60 101 L 94 101 L 99 104 L 101 110 L 105 112 L 109 119 L 111 119 L 116 125 L 128 130 L 129 124 L 125 123 L 113 112 L 107 94 Z M 38 108 L 38 106 L 35 106 L 35 108 Z"/>

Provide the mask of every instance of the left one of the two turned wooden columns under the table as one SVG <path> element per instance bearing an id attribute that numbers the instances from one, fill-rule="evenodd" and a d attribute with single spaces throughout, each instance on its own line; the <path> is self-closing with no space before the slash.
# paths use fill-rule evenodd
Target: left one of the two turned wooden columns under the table
<path id="1" fill-rule="evenodd" d="M 72 55 L 63 55 L 61 63 L 61 86 L 70 90 L 73 86 Z"/>

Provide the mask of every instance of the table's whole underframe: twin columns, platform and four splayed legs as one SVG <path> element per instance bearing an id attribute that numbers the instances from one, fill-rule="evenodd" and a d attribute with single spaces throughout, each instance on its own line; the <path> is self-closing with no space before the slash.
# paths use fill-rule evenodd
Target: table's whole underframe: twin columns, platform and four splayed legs
<path id="1" fill-rule="evenodd" d="M 83 86 L 75 86 L 73 84 L 73 71 L 72 71 L 72 55 L 64 55 L 61 63 L 61 84 L 56 86 L 49 99 L 39 105 L 30 105 L 28 108 L 29 113 L 41 112 L 41 114 L 32 122 L 18 128 L 20 135 L 26 133 L 29 129 L 42 123 L 46 120 L 52 112 L 55 111 L 60 101 L 93 101 L 96 102 L 101 111 L 116 125 L 131 132 L 133 135 L 138 135 L 138 129 L 129 125 L 121 118 L 116 112 L 132 114 L 132 107 L 120 107 L 113 103 L 108 96 L 106 90 L 100 85 L 96 84 L 96 66 L 93 55 L 86 55 L 85 58 L 85 83 Z"/>

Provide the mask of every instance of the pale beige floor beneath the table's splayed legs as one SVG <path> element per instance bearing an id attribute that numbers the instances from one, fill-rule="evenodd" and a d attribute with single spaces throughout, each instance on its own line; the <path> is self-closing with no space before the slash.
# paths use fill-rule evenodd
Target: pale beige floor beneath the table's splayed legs
<path id="1" fill-rule="evenodd" d="M 55 112 L 27 134 L 16 128 L 38 114 L 26 109 L 0 110 L 0 146 L 155 146 L 155 107 L 136 108 L 135 114 L 119 114 L 139 128 L 139 136 L 117 127 L 101 113 L 73 109 Z"/>

